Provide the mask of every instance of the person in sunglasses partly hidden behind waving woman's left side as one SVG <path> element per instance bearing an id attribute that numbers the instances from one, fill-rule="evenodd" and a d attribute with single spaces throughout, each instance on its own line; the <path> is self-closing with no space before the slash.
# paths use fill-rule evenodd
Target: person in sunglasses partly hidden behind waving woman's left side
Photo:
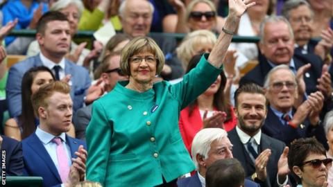
<path id="1" fill-rule="evenodd" d="M 96 84 L 96 100 L 105 93 L 112 91 L 119 80 L 127 80 L 128 77 L 123 75 L 120 66 L 120 52 L 112 52 L 106 55 L 95 71 L 95 77 L 98 78 Z M 85 129 L 92 118 L 92 105 L 78 109 L 73 118 L 75 125 L 75 134 L 77 139 L 85 140 Z"/>

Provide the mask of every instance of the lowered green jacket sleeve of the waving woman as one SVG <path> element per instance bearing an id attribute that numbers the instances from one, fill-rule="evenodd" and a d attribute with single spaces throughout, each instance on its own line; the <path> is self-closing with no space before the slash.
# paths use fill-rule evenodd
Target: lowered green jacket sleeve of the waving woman
<path id="1" fill-rule="evenodd" d="M 99 100 L 92 105 L 92 119 L 87 127 L 87 179 L 105 184 L 110 154 L 112 124 Z"/>

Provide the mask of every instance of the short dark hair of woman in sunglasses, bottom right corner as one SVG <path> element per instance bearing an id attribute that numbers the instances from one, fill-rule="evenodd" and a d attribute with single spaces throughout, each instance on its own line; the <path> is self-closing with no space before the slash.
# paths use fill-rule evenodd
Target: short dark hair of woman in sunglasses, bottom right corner
<path id="1" fill-rule="evenodd" d="M 300 167 L 303 170 L 302 163 L 307 159 L 309 154 L 322 154 L 326 157 L 325 148 L 316 138 L 311 137 L 307 139 L 296 139 L 291 142 L 288 152 L 288 166 L 291 170 L 291 175 L 296 179 L 298 184 L 301 183 L 300 177 L 293 172 L 293 166 Z"/>

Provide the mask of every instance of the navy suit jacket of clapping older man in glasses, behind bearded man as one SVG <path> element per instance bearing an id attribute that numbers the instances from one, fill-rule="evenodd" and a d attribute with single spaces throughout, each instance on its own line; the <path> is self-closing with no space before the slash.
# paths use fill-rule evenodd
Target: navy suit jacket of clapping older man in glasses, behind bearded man
<path id="1" fill-rule="evenodd" d="M 262 132 L 273 137 L 274 139 L 283 141 L 287 145 L 290 145 L 291 141 L 294 139 L 316 136 L 316 139 L 323 143 L 323 145 L 327 148 L 327 140 L 325 138 L 325 131 L 322 124 L 319 124 L 314 128 L 306 119 L 302 122 L 302 125 L 305 127 L 298 127 L 297 129 L 294 129 L 290 125 L 282 124 L 279 117 L 274 114 L 271 107 L 268 107 L 266 121 L 264 126 L 262 126 Z"/>

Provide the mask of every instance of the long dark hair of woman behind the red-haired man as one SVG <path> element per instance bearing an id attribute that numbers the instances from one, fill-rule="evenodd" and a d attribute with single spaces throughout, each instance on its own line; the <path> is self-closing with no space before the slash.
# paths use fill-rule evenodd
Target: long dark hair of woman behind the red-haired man
<path id="1" fill-rule="evenodd" d="M 46 66 L 37 66 L 29 69 L 24 73 L 22 78 L 22 114 L 19 116 L 19 123 L 22 124 L 22 139 L 25 139 L 26 137 L 30 136 L 35 129 L 35 115 L 33 114 L 33 103 L 31 102 L 31 86 L 33 85 L 33 80 L 35 79 L 35 76 L 37 73 L 40 72 L 49 72 L 53 78 L 53 80 L 56 80 L 54 78 L 54 75 L 52 71 L 47 68 Z"/>

